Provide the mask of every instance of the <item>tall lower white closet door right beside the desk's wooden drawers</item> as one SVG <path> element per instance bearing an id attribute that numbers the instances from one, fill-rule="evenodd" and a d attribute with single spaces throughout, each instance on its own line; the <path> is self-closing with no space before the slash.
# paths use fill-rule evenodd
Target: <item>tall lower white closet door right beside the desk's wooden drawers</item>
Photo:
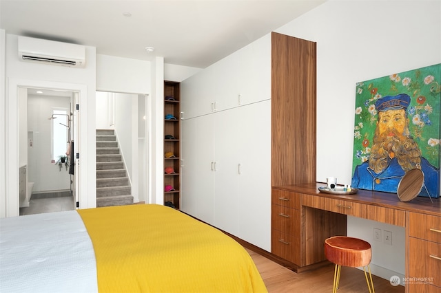
<path id="1" fill-rule="evenodd" d="M 240 238 L 271 251 L 271 100 L 240 107 Z"/>

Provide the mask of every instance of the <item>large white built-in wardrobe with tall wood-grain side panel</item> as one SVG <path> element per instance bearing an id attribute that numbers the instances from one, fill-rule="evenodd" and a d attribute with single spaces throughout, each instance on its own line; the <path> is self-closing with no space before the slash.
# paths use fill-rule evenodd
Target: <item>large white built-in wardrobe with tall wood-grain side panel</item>
<path id="1" fill-rule="evenodd" d="M 271 250 L 271 186 L 316 180 L 315 69 L 271 33 L 181 83 L 183 211 Z"/>

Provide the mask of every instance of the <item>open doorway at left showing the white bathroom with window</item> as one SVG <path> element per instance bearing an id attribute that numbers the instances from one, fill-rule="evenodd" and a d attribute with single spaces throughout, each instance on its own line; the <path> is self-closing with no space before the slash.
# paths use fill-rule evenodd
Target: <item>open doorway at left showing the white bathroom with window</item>
<path id="1" fill-rule="evenodd" d="M 76 208 L 74 91 L 21 88 L 19 214 Z"/>

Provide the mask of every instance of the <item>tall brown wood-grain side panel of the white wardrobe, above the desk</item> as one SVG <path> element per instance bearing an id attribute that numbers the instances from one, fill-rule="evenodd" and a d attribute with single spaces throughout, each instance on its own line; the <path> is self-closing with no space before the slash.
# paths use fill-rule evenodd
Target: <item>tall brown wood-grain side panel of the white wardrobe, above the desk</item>
<path id="1" fill-rule="evenodd" d="M 271 186 L 316 182 L 316 43 L 271 44 Z"/>

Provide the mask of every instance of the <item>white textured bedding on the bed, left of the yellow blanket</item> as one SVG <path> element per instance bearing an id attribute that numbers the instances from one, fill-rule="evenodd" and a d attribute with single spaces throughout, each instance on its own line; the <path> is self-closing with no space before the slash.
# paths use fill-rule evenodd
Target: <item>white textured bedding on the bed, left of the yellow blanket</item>
<path id="1" fill-rule="evenodd" d="M 76 210 L 0 219 L 0 292 L 98 292 L 92 241 Z"/>

